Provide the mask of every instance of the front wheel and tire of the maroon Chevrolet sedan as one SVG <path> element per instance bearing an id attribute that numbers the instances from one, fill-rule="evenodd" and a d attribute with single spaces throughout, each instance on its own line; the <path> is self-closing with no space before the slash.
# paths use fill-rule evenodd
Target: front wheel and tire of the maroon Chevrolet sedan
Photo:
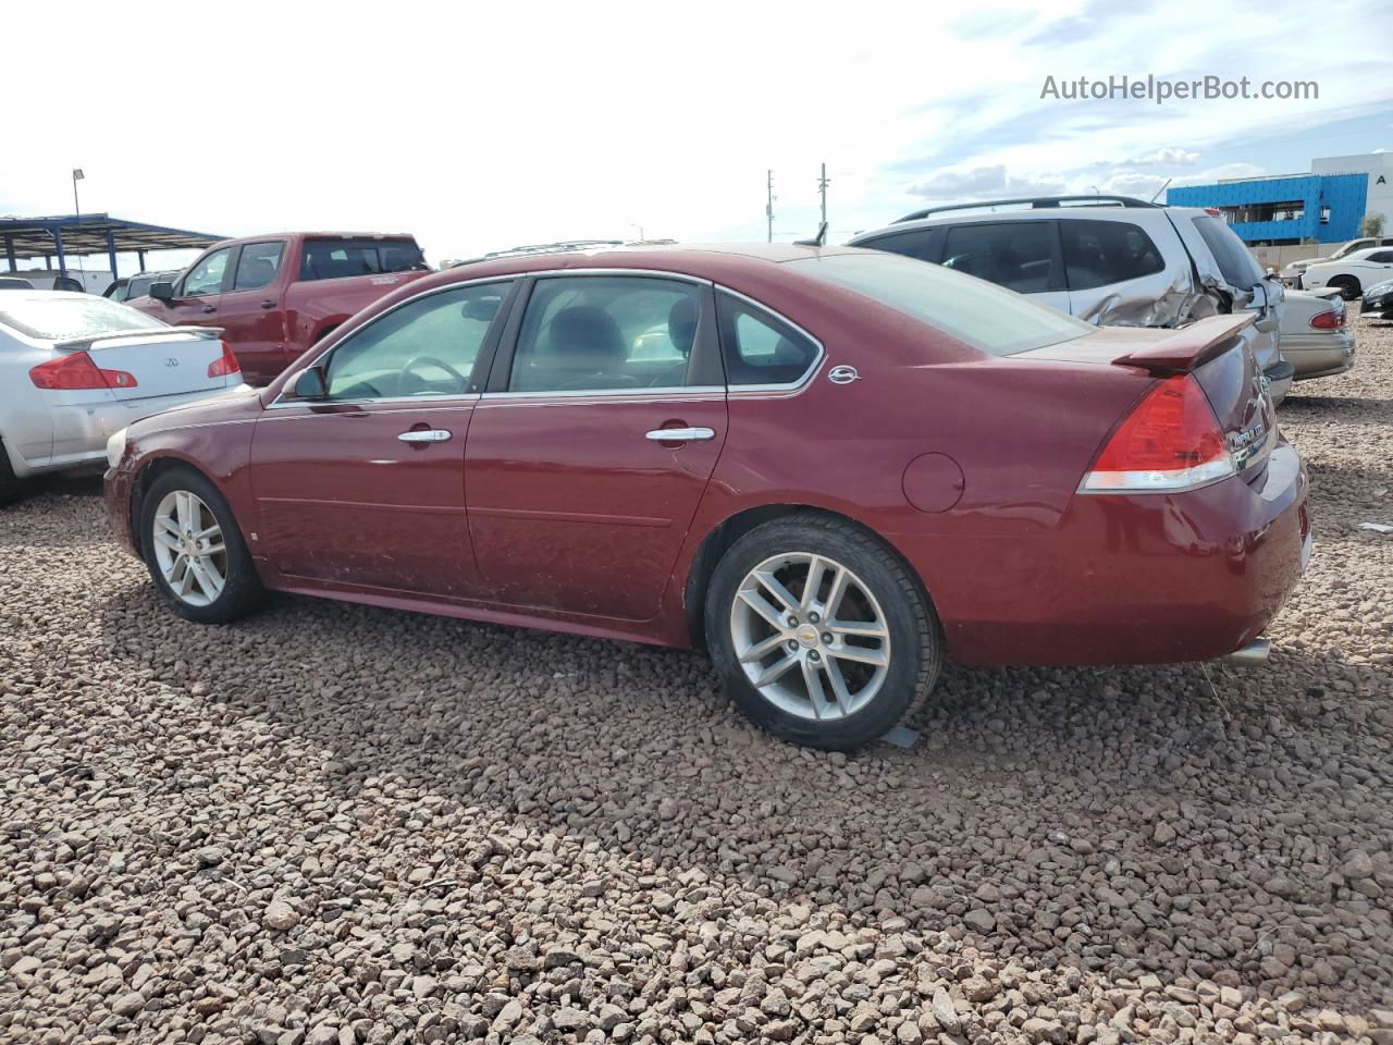
<path id="1" fill-rule="evenodd" d="M 256 564 L 217 488 L 192 468 L 155 478 L 139 507 L 141 557 L 160 596 L 187 620 L 226 624 L 262 599 Z"/>

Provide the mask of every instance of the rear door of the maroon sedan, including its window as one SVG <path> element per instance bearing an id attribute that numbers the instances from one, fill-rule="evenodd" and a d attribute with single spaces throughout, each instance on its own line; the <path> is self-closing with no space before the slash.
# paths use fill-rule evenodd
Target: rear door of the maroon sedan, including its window
<path id="1" fill-rule="evenodd" d="M 490 598 L 653 617 L 724 439 L 709 284 L 534 280 L 465 447 L 469 535 Z"/>

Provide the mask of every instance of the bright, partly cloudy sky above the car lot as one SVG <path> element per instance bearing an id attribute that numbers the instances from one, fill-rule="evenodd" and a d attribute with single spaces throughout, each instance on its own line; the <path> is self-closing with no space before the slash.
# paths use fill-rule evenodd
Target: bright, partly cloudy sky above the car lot
<path id="1" fill-rule="evenodd" d="M 410 231 L 432 262 L 573 238 L 829 241 L 919 206 L 1309 170 L 1393 148 L 1386 0 L 11 4 L 0 216 Z M 57 60 L 54 71 L 50 63 Z M 1110 75 L 1305 100 L 1064 100 Z M 21 148 L 20 144 L 28 144 Z M 152 268 L 188 254 L 153 255 Z M 89 268 L 93 262 L 89 262 Z"/>

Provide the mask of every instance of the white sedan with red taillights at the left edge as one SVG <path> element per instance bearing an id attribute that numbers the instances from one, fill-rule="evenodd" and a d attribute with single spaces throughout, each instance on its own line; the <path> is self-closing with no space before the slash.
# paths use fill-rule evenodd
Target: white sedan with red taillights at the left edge
<path id="1" fill-rule="evenodd" d="M 132 421 L 245 389 L 220 334 L 92 294 L 0 294 L 0 503 L 25 477 L 102 463 Z"/>

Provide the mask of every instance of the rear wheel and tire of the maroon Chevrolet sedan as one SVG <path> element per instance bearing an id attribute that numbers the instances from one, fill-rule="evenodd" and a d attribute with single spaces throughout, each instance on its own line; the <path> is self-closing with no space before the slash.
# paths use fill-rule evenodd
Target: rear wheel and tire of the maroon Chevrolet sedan
<path id="1" fill-rule="evenodd" d="M 943 660 L 910 570 L 869 534 L 812 514 L 765 522 L 722 556 L 705 623 L 741 711 L 830 751 L 883 736 L 929 694 Z"/>

